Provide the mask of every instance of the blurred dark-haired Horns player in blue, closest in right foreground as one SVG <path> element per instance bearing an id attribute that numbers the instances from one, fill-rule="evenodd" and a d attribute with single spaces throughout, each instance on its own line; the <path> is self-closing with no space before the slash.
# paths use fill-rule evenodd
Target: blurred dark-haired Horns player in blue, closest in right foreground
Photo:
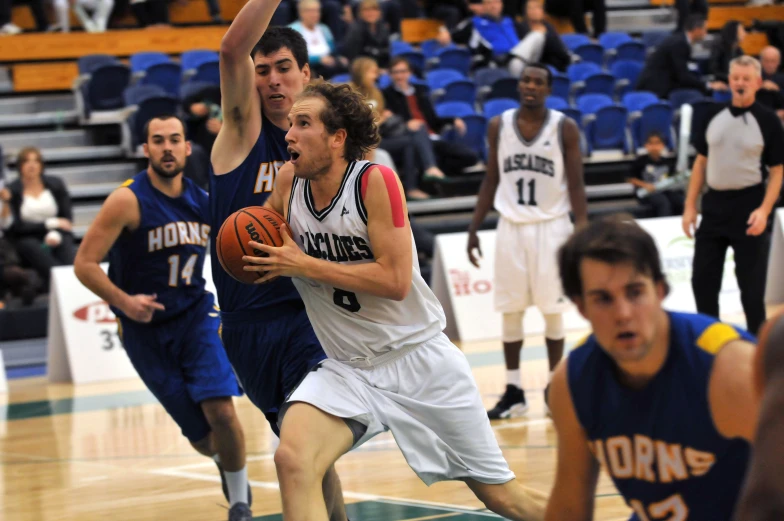
<path id="1" fill-rule="evenodd" d="M 545 519 L 593 519 L 601 464 L 634 521 L 729 521 L 756 425 L 754 338 L 665 310 L 659 253 L 631 219 L 592 222 L 558 262 L 593 334 L 553 376 L 558 465 Z"/>

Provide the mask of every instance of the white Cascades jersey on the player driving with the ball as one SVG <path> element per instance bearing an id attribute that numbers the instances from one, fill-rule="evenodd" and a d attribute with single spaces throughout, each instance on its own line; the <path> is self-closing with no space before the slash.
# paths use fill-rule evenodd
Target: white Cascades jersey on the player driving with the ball
<path id="1" fill-rule="evenodd" d="M 362 175 L 372 166 L 367 161 L 349 163 L 337 195 L 321 211 L 316 211 L 313 203 L 310 181 L 294 178 L 288 221 L 305 253 L 340 264 L 375 260 L 361 196 Z M 411 246 L 411 289 L 400 302 L 310 279 L 293 279 L 327 356 L 340 361 L 373 359 L 425 343 L 443 331 L 444 310 L 419 273 L 413 234 Z"/>

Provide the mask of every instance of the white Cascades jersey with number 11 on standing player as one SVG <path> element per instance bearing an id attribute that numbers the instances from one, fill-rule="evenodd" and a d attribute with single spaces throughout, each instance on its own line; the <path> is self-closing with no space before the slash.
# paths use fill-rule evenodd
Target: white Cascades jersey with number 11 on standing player
<path id="1" fill-rule="evenodd" d="M 571 207 L 563 159 L 566 116 L 548 110 L 539 134 L 527 141 L 517 125 L 517 112 L 509 109 L 501 114 L 495 209 L 521 224 L 566 215 Z"/>

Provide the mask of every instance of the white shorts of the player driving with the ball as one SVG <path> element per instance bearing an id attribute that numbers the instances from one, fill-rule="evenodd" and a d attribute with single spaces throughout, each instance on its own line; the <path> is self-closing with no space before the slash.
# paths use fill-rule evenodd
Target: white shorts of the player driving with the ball
<path id="1" fill-rule="evenodd" d="M 305 402 L 367 427 L 353 448 L 392 431 L 425 484 L 472 478 L 514 479 L 495 438 L 465 355 L 446 335 L 374 367 L 327 359 L 308 373 L 287 404 Z"/>

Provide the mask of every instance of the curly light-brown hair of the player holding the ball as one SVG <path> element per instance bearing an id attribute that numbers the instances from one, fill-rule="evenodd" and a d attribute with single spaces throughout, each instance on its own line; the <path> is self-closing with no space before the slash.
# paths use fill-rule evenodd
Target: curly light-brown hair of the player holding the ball
<path id="1" fill-rule="evenodd" d="M 309 83 L 300 94 L 300 99 L 308 97 L 324 100 L 325 107 L 320 116 L 327 132 L 334 134 L 340 129 L 346 131 L 343 152 L 346 161 L 361 160 L 381 142 L 378 115 L 367 99 L 349 85 L 316 80 Z"/>

